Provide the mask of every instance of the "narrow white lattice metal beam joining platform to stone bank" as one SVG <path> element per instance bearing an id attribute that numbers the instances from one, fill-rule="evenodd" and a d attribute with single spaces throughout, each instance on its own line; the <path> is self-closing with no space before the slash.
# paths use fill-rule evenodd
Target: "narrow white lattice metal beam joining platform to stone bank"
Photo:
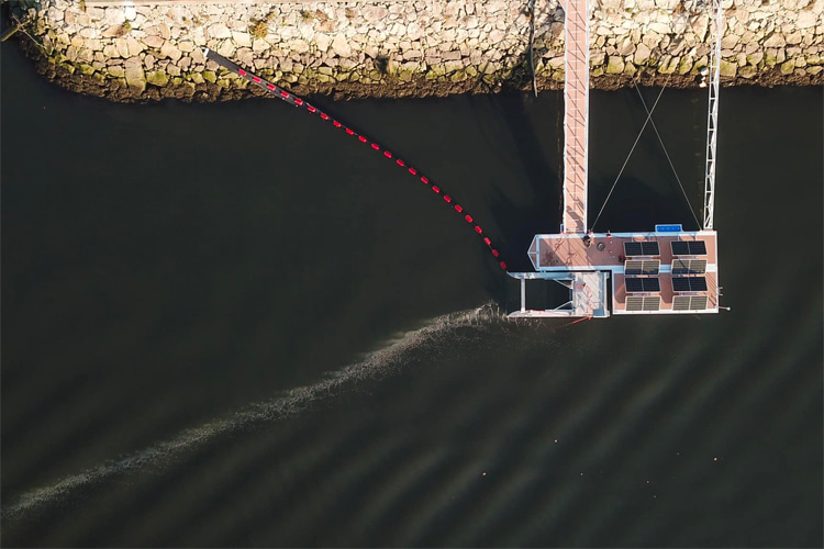
<path id="1" fill-rule="evenodd" d="M 706 112 L 706 170 L 704 171 L 704 229 L 712 231 L 715 214 L 715 146 L 719 131 L 719 88 L 721 80 L 721 37 L 723 31 L 722 0 L 715 2 L 715 21 L 710 24 L 710 35 L 715 38 L 710 53 L 710 102 Z M 712 18 L 711 12 L 711 18 Z"/>

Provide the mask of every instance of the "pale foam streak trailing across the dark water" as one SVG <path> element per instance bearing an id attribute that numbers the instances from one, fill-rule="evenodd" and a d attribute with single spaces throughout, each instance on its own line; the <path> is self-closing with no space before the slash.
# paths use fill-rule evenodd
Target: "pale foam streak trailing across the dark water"
<path id="1" fill-rule="evenodd" d="M 218 437 L 240 432 L 257 423 L 275 422 L 294 415 L 312 403 L 339 394 L 354 384 L 376 381 L 392 372 L 399 372 L 407 365 L 410 351 L 437 344 L 455 329 L 490 326 L 502 320 L 503 315 L 491 302 L 477 309 L 437 316 L 425 322 L 422 327 L 387 341 L 380 349 L 369 352 L 364 360 L 345 366 L 316 383 L 291 389 L 269 401 L 253 403 L 230 417 L 186 429 L 169 440 L 160 441 L 125 458 L 68 477 L 49 486 L 32 490 L 23 494 L 18 503 L 3 508 L 2 516 L 12 519 L 23 518 L 46 506 L 58 504 L 82 488 L 130 471 L 162 468 L 182 453 L 202 447 Z"/>

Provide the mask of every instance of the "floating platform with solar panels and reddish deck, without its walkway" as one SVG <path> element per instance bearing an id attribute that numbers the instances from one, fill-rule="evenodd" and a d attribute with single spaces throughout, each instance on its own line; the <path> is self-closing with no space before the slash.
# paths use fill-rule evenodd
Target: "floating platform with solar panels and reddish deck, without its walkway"
<path id="1" fill-rule="evenodd" d="M 528 249 L 535 272 L 521 280 L 521 309 L 513 317 L 719 312 L 715 231 L 535 235 Z M 569 289 L 556 309 L 526 309 L 526 281 L 547 280 Z"/>

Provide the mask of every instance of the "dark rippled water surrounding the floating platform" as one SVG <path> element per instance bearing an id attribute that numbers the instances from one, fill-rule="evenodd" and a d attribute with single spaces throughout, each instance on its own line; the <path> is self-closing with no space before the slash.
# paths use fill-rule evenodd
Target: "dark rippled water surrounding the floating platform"
<path id="1" fill-rule="evenodd" d="M 318 119 L 2 61 L 3 545 L 824 542 L 821 89 L 722 93 L 732 312 L 565 326 Z M 591 99 L 594 216 L 644 111 Z M 558 94 L 318 102 L 515 268 L 557 227 Z M 700 215 L 705 94 L 655 120 Z M 694 227 L 652 132 L 624 176 L 597 228 Z"/>

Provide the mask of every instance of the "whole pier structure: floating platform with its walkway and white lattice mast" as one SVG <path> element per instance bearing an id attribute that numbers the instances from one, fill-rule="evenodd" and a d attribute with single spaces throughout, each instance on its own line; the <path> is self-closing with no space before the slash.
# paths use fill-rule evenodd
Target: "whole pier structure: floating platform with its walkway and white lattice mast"
<path id="1" fill-rule="evenodd" d="M 703 223 L 697 231 L 659 224 L 642 233 L 594 233 L 587 220 L 589 137 L 589 0 L 561 0 L 565 10 L 564 189 L 560 231 L 535 235 L 527 255 L 533 272 L 521 281 L 512 317 L 608 317 L 611 314 L 717 313 L 717 235 L 713 229 L 721 59 L 721 0 L 710 0 L 711 53 L 706 85 L 706 169 Z M 652 114 L 650 114 L 652 116 Z M 527 283 L 554 281 L 569 298 L 554 307 L 527 307 Z"/>

